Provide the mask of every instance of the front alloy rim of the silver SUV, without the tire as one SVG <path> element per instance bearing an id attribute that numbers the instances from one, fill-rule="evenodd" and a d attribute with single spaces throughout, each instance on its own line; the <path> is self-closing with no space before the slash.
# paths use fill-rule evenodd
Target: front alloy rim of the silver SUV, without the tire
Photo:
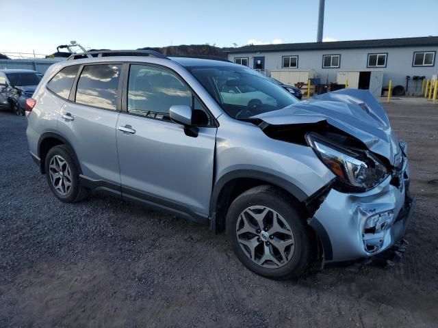
<path id="1" fill-rule="evenodd" d="M 244 254 L 261 267 L 283 267 L 294 256 L 292 229 L 272 208 L 246 208 L 237 219 L 235 233 Z"/>

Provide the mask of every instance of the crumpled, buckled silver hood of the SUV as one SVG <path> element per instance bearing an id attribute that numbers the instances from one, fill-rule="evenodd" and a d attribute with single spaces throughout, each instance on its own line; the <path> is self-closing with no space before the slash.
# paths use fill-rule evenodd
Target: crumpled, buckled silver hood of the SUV
<path id="1" fill-rule="evenodd" d="M 400 152 L 383 107 L 368 90 L 343 89 L 321 94 L 278 111 L 253 116 L 272 125 L 326 121 L 365 143 L 372 152 L 394 165 Z"/>

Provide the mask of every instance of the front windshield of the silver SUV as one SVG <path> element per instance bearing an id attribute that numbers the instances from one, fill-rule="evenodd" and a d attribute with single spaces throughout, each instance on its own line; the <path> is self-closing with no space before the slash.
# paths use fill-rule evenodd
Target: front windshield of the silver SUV
<path id="1" fill-rule="evenodd" d="M 243 66 L 194 66 L 188 70 L 231 117 L 276 111 L 298 100 L 279 85 Z"/>

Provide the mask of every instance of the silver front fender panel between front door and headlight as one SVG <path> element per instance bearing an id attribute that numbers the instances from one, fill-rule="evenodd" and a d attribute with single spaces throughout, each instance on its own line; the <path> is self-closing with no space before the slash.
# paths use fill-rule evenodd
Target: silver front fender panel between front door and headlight
<path id="1" fill-rule="evenodd" d="M 229 172 L 262 172 L 287 180 L 309 196 L 335 177 L 308 146 L 268 138 L 258 126 L 226 115 L 218 122 L 215 184 Z"/>

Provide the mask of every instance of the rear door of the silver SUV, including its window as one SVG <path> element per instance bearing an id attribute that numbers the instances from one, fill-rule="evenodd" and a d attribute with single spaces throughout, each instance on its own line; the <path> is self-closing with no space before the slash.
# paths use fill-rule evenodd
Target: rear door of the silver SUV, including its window
<path id="1" fill-rule="evenodd" d="M 82 173 L 120 186 L 116 124 L 120 113 L 121 64 L 81 66 L 57 130 L 73 146 Z M 49 85 L 50 86 L 50 85 Z"/>

